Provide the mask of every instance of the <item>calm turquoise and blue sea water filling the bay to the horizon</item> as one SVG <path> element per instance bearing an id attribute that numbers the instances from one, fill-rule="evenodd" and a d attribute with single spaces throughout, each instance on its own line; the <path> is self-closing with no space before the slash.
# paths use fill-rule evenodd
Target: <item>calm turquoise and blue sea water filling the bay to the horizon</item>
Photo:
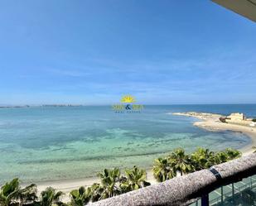
<path id="1" fill-rule="evenodd" d="M 111 107 L 0 109 L 0 180 L 70 180 L 104 168 L 139 165 L 173 148 L 218 151 L 241 148 L 249 137 L 238 132 L 206 132 L 196 119 L 172 112 L 200 111 L 256 117 L 256 105 L 145 106 L 142 113 L 114 113 Z"/>

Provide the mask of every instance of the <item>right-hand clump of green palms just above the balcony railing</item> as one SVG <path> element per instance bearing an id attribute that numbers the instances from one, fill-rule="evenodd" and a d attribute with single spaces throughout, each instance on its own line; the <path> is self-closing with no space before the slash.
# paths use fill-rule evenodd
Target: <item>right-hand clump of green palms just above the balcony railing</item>
<path id="1" fill-rule="evenodd" d="M 234 160 L 240 156 L 241 152 L 231 148 L 215 153 L 209 149 L 199 147 L 191 155 L 186 155 L 182 148 L 177 148 L 171 152 L 171 155 L 157 158 L 154 161 L 152 171 L 155 179 L 162 182 L 175 177 L 176 172 L 184 175 L 195 170 L 208 169 L 213 165 Z"/>

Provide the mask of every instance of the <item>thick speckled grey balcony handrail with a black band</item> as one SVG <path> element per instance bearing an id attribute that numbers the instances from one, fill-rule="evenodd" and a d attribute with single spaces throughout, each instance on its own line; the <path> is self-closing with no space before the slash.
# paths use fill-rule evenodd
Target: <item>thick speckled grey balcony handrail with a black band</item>
<path id="1" fill-rule="evenodd" d="M 196 204 L 200 199 L 200 205 L 205 206 L 209 205 L 210 192 L 252 175 L 256 175 L 256 153 L 90 205 L 181 206 Z"/>

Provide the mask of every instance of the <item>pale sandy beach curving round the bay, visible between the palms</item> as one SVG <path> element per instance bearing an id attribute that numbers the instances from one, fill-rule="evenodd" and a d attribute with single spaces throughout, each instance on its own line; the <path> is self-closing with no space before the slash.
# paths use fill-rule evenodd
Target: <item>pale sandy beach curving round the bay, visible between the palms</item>
<path id="1" fill-rule="evenodd" d="M 243 132 L 245 135 L 251 138 L 252 144 L 249 146 L 244 146 L 239 151 L 242 151 L 243 155 L 248 155 L 254 151 L 252 149 L 252 146 L 256 145 L 256 128 L 220 122 L 219 118 L 222 117 L 222 115 L 214 114 L 214 113 L 171 113 L 171 114 L 187 116 L 187 117 L 196 117 L 200 121 L 195 122 L 194 125 L 196 127 L 200 127 L 202 129 L 205 129 L 211 132 L 219 132 L 219 131 Z M 157 181 L 154 179 L 152 175 L 152 170 L 147 170 L 147 180 L 151 184 L 157 184 Z M 39 193 L 49 186 L 55 188 L 56 190 L 63 191 L 65 193 L 65 196 L 63 197 L 62 200 L 67 202 L 69 201 L 69 193 L 72 189 L 78 189 L 82 185 L 86 187 L 94 183 L 99 183 L 98 177 L 89 177 L 85 179 L 76 179 L 76 180 L 58 180 L 58 181 L 49 181 L 49 182 L 38 182 L 36 184 L 37 184 L 37 189 Z"/>

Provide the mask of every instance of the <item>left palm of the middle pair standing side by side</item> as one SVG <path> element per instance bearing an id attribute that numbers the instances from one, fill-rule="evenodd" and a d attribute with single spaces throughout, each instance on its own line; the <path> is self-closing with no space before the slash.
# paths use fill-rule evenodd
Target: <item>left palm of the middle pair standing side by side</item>
<path id="1" fill-rule="evenodd" d="M 99 199 L 107 199 L 121 194 L 121 189 L 119 188 L 120 170 L 118 168 L 113 170 L 105 169 L 98 175 L 101 179 L 101 185 L 98 190 L 102 191 Z"/>

